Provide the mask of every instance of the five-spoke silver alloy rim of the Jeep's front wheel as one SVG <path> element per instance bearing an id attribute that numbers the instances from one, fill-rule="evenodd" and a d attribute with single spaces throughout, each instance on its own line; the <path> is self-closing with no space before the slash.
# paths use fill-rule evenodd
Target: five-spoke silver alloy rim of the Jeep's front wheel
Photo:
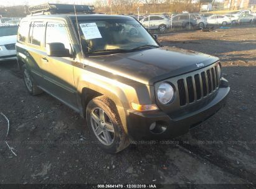
<path id="1" fill-rule="evenodd" d="M 114 141 L 115 130 L 107 113 L 101 108 L 93 108 L 90 121 L 98 141 L 104 145 L 111 145 Z"/>

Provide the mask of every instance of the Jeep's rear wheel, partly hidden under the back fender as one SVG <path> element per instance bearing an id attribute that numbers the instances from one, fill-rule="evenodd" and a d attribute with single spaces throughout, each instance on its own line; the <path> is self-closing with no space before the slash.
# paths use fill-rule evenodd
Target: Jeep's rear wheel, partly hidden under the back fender
<path id="1" fill-rule="evenodd" d="M 23 75 L 24 84 L 27 88 L 27 91 L 29 91 L 29 94 L 31 94 L 32 96 L 35 96 L 37 94 L 43 93 L 43 91 L 37 87 L 34 79 L 32 78 L 32 76 L 25 64 L 22 65 L 22 75 Z"/>

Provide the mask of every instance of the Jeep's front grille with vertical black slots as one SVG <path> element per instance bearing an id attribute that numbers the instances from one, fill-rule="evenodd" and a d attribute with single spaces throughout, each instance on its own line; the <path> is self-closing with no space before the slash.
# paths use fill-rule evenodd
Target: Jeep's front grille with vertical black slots
<path id="1" fill-rule="evenodd" d="M 219 86 L 217 67 L 201 71 L 196 75 L 187 76 L 177 81 L 179 91 L 179 104 L 184 106 L 202 99 L 215 91 Z"/>

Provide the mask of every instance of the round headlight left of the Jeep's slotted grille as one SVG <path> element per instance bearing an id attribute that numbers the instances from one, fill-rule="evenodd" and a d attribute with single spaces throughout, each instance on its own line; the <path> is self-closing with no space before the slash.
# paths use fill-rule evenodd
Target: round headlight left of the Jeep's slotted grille
<path id="1" fill-rule="evenodd" d="M 174 96 L 174 90 L 169 83 L 161 83 L 161 85 L 158 87 L 158 100 L 162 104 L 169 103 Z"/>

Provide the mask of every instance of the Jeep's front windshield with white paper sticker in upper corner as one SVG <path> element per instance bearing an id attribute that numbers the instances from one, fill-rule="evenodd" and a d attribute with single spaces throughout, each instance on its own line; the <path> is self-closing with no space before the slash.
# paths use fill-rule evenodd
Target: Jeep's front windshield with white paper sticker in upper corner
<path id="1" fill-rule="evenodd" d="M 74 20 L 73 24 L 77 26 Z M 126 52 L 159 47 L 145 28 L 132 18 L 78 19 L 78 27 L 85 53 Z M 76 27 L 77 28 L 77 27 Z"/>

